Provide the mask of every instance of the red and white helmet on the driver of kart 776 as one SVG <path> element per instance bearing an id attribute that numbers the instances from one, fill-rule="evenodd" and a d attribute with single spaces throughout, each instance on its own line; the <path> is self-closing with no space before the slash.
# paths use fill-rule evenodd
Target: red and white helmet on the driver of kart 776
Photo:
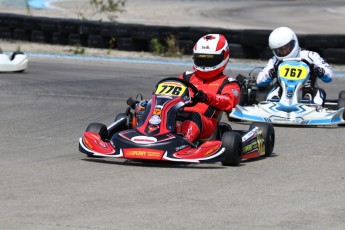
<path id="1" fill-rule="evenodd" d="M 194 70 L 203 79 L 217 76 L 229 62 L 230 49 L 221 34 L 207 34 L 193 48 Z"/>

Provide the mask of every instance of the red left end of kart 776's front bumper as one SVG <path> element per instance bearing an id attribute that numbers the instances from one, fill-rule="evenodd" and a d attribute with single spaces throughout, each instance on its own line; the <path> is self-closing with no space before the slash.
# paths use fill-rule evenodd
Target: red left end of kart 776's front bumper
<path id="1" fill-rule="evenodd" d="M 101 139 L 99 134 L 93 132 L 85 132 L 83 143 L 86 147 L 96 153 L 111 155 L 115 153 L 115 149 L 109 142 Z"/>

